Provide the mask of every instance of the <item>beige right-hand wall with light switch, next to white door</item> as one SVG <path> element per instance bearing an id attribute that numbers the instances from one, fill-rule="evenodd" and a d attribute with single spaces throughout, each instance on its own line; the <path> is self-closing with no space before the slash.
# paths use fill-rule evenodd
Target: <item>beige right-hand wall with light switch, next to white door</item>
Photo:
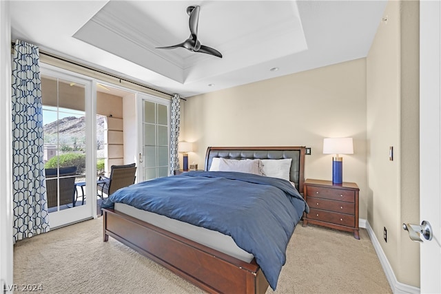
<path id="1" fill-rule="evenodd" d="M 419 244 L 402 229 L 419 222 L 418 1 L 389 1 L 386 16 L 367 57 L 368 220 L 397 280 L 419 286 Z"/>

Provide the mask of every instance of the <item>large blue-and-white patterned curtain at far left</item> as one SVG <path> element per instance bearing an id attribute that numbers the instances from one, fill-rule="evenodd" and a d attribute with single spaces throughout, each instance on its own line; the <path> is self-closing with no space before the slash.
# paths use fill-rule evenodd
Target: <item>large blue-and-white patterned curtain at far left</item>
<path id="1" fill-rule="evenodd" d="M 39 48 L 17 40 L 12 60 L 14 242 L 50 230 L 43 144 Z"/>

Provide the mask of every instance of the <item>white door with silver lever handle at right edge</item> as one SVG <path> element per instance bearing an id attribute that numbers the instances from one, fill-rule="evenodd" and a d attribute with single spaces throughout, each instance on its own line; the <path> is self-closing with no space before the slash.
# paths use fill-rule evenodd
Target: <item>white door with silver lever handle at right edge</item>
<path id="1" fill-rule="evenodd" d="M 433 240 L 420 244 L 421 293 L 441 293 L 441 3 L 420 1 L 420 222 Z"/>

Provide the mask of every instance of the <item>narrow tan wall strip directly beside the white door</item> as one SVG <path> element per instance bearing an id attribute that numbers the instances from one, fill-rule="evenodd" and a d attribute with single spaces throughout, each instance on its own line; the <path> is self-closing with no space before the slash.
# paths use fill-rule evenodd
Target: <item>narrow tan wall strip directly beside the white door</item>
<path id="1" fill-rule="evenodd" d="M 400 224 L 420 223 L 420 3 L 403 1 L 401 8 L 400 107 L 400 264 L 396 273 L 404 284 L 420 286 L 420 245 L 411 242 Z M 410 256 L 410 258 L 409 258 Z M 409 264 L 412 266 L 409 268 Z"/>

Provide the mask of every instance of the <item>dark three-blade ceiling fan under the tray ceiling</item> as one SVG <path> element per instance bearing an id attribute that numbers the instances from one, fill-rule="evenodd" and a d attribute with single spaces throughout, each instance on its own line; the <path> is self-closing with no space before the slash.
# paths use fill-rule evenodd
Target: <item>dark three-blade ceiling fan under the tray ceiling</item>
<path id="1" fill-rule="evenodd" d="M 201 8 L 199 6 L 188 6 L 187 14 L 190 16 L 189 19 L 189 27 L 190 27 L 190 36 L 187 40 L 183 41 L 183 43 L 179 43 L 172 46 L 167 47 L 157 47 L 158 49 L 174 49 L 174 48 L 185 48 L 187 50 L 193 52 L 201 52 L 205 54 L 212 54 L 219 58 L 222 58 L 222 54 L 218 52 L 218 50 L 209 48 L 208 46 L 201 45 L 201 42 L 198 40 L 198 21 L 199 21 L 199 10 Z"/>

